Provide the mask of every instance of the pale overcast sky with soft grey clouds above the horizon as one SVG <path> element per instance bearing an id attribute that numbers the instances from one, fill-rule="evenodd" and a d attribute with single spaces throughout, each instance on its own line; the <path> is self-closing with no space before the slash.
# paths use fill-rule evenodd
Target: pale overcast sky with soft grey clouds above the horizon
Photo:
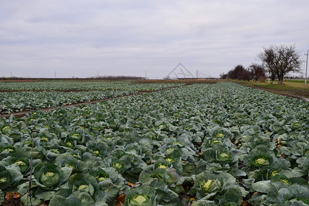
<path id="1" fill-rule="evenodd" d="M 0 1 L 0 76 L 218 77 L 269 45 L 309 49 L 308 0 Z M 304 66 L 305 69 L 305 66 Z"/>

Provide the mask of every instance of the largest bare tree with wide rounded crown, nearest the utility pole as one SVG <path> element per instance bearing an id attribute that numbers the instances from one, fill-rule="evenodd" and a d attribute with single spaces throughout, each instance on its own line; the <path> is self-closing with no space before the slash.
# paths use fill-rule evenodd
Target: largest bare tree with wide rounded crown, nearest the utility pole
<path id="1" fill-rule="evenodd" d="M 283 83 L 284 76 L 289 72 L 300 73 L 301 64 L 304 62 L 295 45 L 271 45 L 264 48 L 264 51 L 258 54 L 258 58 L 270 74 L 271 83 L 277 76 L 278 84 Z"/>

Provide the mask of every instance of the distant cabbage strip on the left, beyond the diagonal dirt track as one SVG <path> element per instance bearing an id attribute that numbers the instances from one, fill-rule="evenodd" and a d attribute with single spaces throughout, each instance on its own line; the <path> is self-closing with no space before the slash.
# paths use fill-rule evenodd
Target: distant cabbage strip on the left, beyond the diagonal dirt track
<path id="1" fill-rule="evenodd" d="M 29 89 L 30 91 L 0 93 L 0 114 L 16 113 L 24 110 L 65 106 L 78 102 L 90 102 L 105 98 L 115 98 L 138 91 L 153 91 L 175 87 L 181 84 L 135 84 L 121 82 L 0 82 L 5 89 Z M 27 87 L 25 87 L 27 85 Z M 78 85 L 81 87 L 78 89 Z M 45 89 L 48 91 L 31 91 Z M 51 90 L 89 89 L 89 91 L 60 92 Z M 100 91 L 93 91 L 100 89 Z"/>

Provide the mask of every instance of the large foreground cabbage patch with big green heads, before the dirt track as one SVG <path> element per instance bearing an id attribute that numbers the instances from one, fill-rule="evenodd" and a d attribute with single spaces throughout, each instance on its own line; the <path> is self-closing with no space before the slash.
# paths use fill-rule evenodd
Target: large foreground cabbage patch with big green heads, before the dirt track
<path id="1" fill-rule="evenodd" d="M 304 100 L 192 84 L 0 127 L 0 203 L 16 192 L 25 205 L 309 205 Z"/>

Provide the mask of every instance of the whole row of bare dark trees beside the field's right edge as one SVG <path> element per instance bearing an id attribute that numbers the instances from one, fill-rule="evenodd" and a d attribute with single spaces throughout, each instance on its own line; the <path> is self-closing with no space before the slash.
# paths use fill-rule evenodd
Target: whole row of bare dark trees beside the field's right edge
<path id="1" fill-rule="evenodd" d="M 247 69 L 237 65 L 229 72 L 222 73 L 220 78 L 264 82 L 268 76 L 271 84 L 276 78 L 278 84 L 282 84 L 288 73 L 301 73 L 301 65 L 304 63 L 295 45 L 271 45 L 258 54 L 258 59 L 261 65 L 252 64 Z"/>

